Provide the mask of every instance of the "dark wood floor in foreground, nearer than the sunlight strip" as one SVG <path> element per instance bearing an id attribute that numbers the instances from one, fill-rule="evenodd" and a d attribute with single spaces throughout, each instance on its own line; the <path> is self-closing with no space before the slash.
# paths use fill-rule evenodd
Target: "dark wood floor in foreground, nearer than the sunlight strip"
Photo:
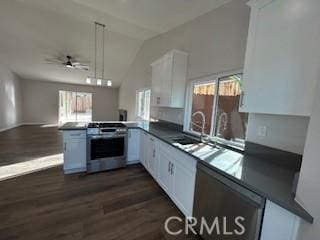
<path id="1" fill-rule="evenodd" d="M 91 175 L 55 167 L 0 182 L 1 240 L 197 239 L 167 234 L 170 216 L 182 214 L 141 165 Z"/>

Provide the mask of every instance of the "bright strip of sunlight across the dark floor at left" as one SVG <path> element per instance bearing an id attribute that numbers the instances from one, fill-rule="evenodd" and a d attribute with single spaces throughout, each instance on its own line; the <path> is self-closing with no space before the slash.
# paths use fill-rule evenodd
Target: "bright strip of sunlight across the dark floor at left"
<path id="1" fill-rule="evenodd" d="M 63 164 L 63 154 L 56 154 L 37 158 L 27 162 L 15 163 L 0 167 L 0 181 L 18 177 L 32 172 L 37 172 L 47 168 Z"/>

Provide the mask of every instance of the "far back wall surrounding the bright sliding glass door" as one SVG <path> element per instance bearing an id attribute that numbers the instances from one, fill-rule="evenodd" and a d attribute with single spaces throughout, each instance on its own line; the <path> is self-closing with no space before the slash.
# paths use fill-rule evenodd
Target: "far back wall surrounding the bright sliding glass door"
<path id="1" fill-rule="evenodd" d="M 92 119 L 118 120 L 118 92 L 116 88 L 80 86 L 44 81 L 21 80 L 24 123 L 57 123 L 59 90 L 93 94 Z"/>

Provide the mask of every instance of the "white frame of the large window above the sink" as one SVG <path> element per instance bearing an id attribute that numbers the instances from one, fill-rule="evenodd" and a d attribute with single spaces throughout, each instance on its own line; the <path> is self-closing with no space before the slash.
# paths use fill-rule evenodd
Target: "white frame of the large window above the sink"
<path id="1" fill-rule="evenodd" d="M 223 139 L 223 138 L 216 136 L 216 128 L 217 128 L 216 123 L 217 123 L 217 115 L 218 115 L 218 103 L 219 103 L 218 98 L 219 98 L 220 79 L 223 79 L 225 77 L 232 76 L 232 75 L 237 75 L 237 74 L 243 75 L 243 69 L 237 69 L 237 70 L 232 70 L 232 71 L 228 71 L 228 72 L 207 75 L 205 77 L 192 79 L 189 82 L 189 84 L 187 85 L 187 90 L 186 90 L 186 103 L 185 103 L 184 125 L 183 125 L 184 132 L 189 133 L 194 136 L 198 136 L 198 137 L 201 136 L 201 133 L 190 130 L 194 85 L 215 83 L 216 89 L 215 89 L 215 95 L 213 97 L 213 103 L 212 103 L 213 110 L 212 110 L 211 130 L 210 130 L 209 138 L 211 141 L 217 141 L 219 143 L 222 143 L 222 144 L 230 146 L 230 147 L 234 147 L 237 149 L 243 148 L 243 146 L 240 146 L 239 144 L 237 144 L 235 142 L 228 141 L 226 139 Z"/>

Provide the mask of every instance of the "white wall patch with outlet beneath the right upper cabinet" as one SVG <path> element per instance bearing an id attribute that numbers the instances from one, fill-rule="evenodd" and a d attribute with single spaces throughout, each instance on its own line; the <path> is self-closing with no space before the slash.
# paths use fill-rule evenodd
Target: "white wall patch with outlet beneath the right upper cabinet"
<path id="1" fill-rule="evenodd" d="M 261 145 L 298 154 L 303 153 L 309 124 L 308 117 L 267 114 L 249 115 L 247 140 Z M 259 127 L 267 127 L 266 137 L 258 134 Z"/>

